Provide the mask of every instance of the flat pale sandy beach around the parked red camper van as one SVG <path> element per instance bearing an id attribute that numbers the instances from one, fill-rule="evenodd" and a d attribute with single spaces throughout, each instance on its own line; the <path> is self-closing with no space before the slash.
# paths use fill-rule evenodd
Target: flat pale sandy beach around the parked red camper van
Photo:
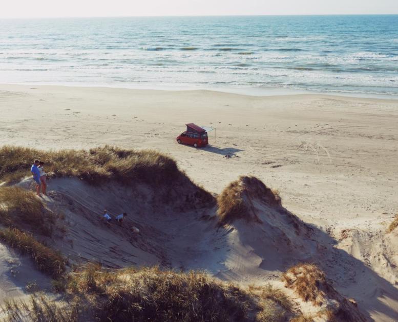
<path id="1" fill-rule="evenodd" d="M 397 211 L 396 100 L 33 85 L 0 85 L 0 100 L 2 145 L 156 149 L 211 192 L 255 175 L 329 230 Z M 216 128 L 209 147 L 177 144 L 191 122 Z"/>

